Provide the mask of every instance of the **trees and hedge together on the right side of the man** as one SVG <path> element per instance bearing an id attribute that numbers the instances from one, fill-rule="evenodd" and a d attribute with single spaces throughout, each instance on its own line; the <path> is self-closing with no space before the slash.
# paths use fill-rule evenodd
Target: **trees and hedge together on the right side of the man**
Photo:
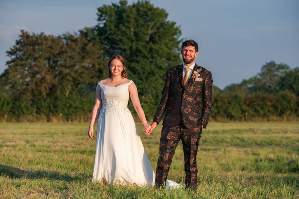
<path id="1" fill-rule="evenodd" d="M 212 118 L 216 120 L 298 120 L 299 68 L 271 61 L 256 76 L 213 87 Z"/>

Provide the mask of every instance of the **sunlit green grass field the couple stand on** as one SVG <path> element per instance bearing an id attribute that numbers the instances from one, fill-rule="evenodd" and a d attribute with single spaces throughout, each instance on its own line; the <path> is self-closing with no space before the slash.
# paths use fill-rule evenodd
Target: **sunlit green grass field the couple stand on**
<path id="1" fill-rule="evenodd" d="M 88 126 L 1 123 L 0 198 L 299 198 L 298 122 L 209 123 L 192 192 L 92 183 L 95 139 Z M 161 128 L 140 133 L 154 171 Z M 184 185 L 181 142 L 168 179 Z"/>

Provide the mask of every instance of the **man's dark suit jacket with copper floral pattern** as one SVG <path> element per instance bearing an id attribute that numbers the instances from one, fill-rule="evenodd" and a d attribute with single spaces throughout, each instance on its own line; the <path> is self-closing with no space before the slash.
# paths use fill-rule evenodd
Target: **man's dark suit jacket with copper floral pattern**
<path id="1" fill-rule="evenodd" d="M 212 74 L 195 64 L 193 72 L 199 72 L 199 78 L 192 78 L 184 89 L 183 64 L 167 69 L 161 101 L 154 120 L 159 123 L 164 115 L 163 125 L 175 127 L 181 119 L 187 128 L 199 125 L 207 126 L 212 104 Z"/>

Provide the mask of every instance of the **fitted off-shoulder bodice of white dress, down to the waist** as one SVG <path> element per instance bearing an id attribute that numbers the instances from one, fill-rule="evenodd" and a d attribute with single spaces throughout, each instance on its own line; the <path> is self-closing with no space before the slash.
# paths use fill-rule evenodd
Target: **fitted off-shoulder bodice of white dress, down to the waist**
<path id="1" fill-rule="evenodd" d="M 105 113 L 118 113 L 123 111 L 129 111 L 128 101 L 129 101 L 129 85 L 133 81 L 129 81 L 120 86 L 107 86 L 102 83 L 97 83 L 100 85 L 101 89 L 101 99 L 102 99 L 102 109 Z"/>

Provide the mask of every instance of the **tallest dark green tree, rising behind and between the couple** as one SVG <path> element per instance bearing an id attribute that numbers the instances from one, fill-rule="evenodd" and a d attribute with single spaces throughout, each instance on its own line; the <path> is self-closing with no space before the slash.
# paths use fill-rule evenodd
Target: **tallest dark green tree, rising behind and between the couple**
<path id="1" fill-rule="evenodd" d="M 103 59 L 121 54 L 126 59 L 129 79 L 138 88 L 145 112 L 152 116 L 161 97 L 166 69 L 181 63 L 181 31 L 167 20 L 164 9 L 149 1 L 128 5 L 127 1 L 98 8 L 98 24 L 81 31 L 86 38 L 105 48 Z M 104 76 L 105 75 L 105 76 Z M 101 78 L 107 78 L 105 72 Z"/>

